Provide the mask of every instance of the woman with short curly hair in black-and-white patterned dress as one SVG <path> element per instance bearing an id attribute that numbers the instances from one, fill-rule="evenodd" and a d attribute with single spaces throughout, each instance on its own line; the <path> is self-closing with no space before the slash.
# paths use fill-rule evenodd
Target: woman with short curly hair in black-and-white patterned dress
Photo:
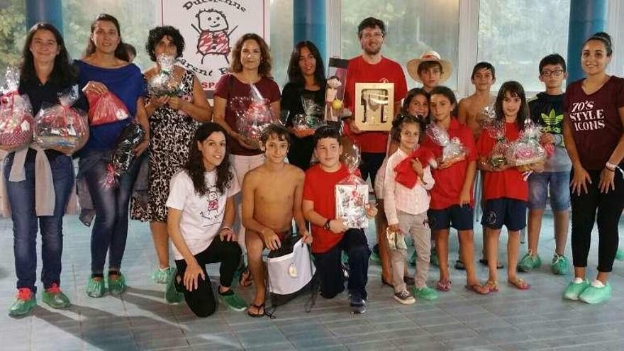
<path id="1" fill-rule="evenodd" d="M 145 50 L 156 64 L 143 76 L 150 81 L 162 72 L 158 57 L 171 59 L 182 56 L 184 38 L 177 28 L 162 26 L 152 28 Z M 189 157 L 189 145 L 200 123 L 211 118 L 211 108 L 204 96 L 199 79 L 188 69 L 174 66 L 172 76 L 179 88 L 174 95 L 153 96 L 147 92 L 145 111 L 150 121 L 149 186 L 147 208 L 133 203 L 132 217 L 150 222 L 152 239 L 158 255 L 158 269 L 152 279 L 167 284 L 172 269 L 169 267 L 169 234 L 167 233 L 167 195 L 169 181 Z M 176 301 L 170 301 L 176 302 Z"/>

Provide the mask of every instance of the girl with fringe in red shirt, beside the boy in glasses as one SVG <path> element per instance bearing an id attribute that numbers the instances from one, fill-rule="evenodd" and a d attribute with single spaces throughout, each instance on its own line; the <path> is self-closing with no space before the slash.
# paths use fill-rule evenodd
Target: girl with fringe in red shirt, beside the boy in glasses
<path id="1" fill-rule="evenodd" d="M 496 96 L 496 121 L 498 128 L 491 127 L 477 142 L 479 162 L 477 166 L 484 171 L 483 199 L 484 215 L 481 224 L 486 227 L 487 259 L 489 279 L 486 286 L 489 291 L 498 291 L 496 257 L 498 257 L 498 236 L 503 225 L 507 227 L 507 279 L 511 286 L 521 290 L 529 289 L 523 279 L 516 276 L 516 262 L 520 250 L 520 230 L 526 226 L 526 201 L 528 184 L 523 174 L 516 167 L 499 162 L 492 162 L 491 152 L 496 143 L 511 143 L 518 139 L 524 121 L 528 118 L 528 106 L 522 85 L 518 82 L 505 82 Z M 495 130 L 504 133 L 497 135 Z"/>

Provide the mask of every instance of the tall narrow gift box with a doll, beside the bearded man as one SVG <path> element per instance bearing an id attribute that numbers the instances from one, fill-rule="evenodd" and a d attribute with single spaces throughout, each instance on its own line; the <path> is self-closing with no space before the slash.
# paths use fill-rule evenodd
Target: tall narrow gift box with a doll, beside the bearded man
<path id="1" fill-rule="evenodd" d="M 325 121 L 338 122 L 342 118 L 342 101 L 345 99 L 345 82 L 349 60 L 331 57 L 325 88 Z"/>

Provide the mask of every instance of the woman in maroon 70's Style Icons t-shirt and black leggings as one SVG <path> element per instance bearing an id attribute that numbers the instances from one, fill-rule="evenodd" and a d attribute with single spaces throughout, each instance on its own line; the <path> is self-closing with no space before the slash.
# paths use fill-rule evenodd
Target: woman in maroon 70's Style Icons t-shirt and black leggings
<path id="1" fill-rule="evenodd" d="M 618 222 L 624 209 L 624 79 L 605 72 L 611 38 L 586 40 L 581 67 L 586 78 L 569 85 L 564 102 L 564 141 L 572 160 L 572 257 L 574 281 L 564 298 L 598 303 L 611 298 L 608 275 L 618 248 Z M 621 173 L 621 174 L 620 174 Z M 598 223 L 598 277 L 586 280 L 591 230 Z"/>

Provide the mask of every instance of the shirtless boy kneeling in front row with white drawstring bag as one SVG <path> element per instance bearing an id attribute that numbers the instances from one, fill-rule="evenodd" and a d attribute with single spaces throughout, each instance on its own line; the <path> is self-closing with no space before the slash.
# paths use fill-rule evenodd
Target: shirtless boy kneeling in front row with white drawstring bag
<path id="1" fill-rule="evenodd" d="M 256 282 L 256 294 L 247 314 L 264 316 L 264 264 L 262 250 L 277 250 L 291 233 L 293 218 L 303 241 L 312 242 L 301 212 L 303 180 L 306 175 L 299 167 L 284 162 L 290 146 L 286 128 L 271 125 L 260 138 L 264 164 L 245 174 L 243 180 L 243 226 L 251 274 Z M 279 182 L 279 183 L 278 183 Z"/>

